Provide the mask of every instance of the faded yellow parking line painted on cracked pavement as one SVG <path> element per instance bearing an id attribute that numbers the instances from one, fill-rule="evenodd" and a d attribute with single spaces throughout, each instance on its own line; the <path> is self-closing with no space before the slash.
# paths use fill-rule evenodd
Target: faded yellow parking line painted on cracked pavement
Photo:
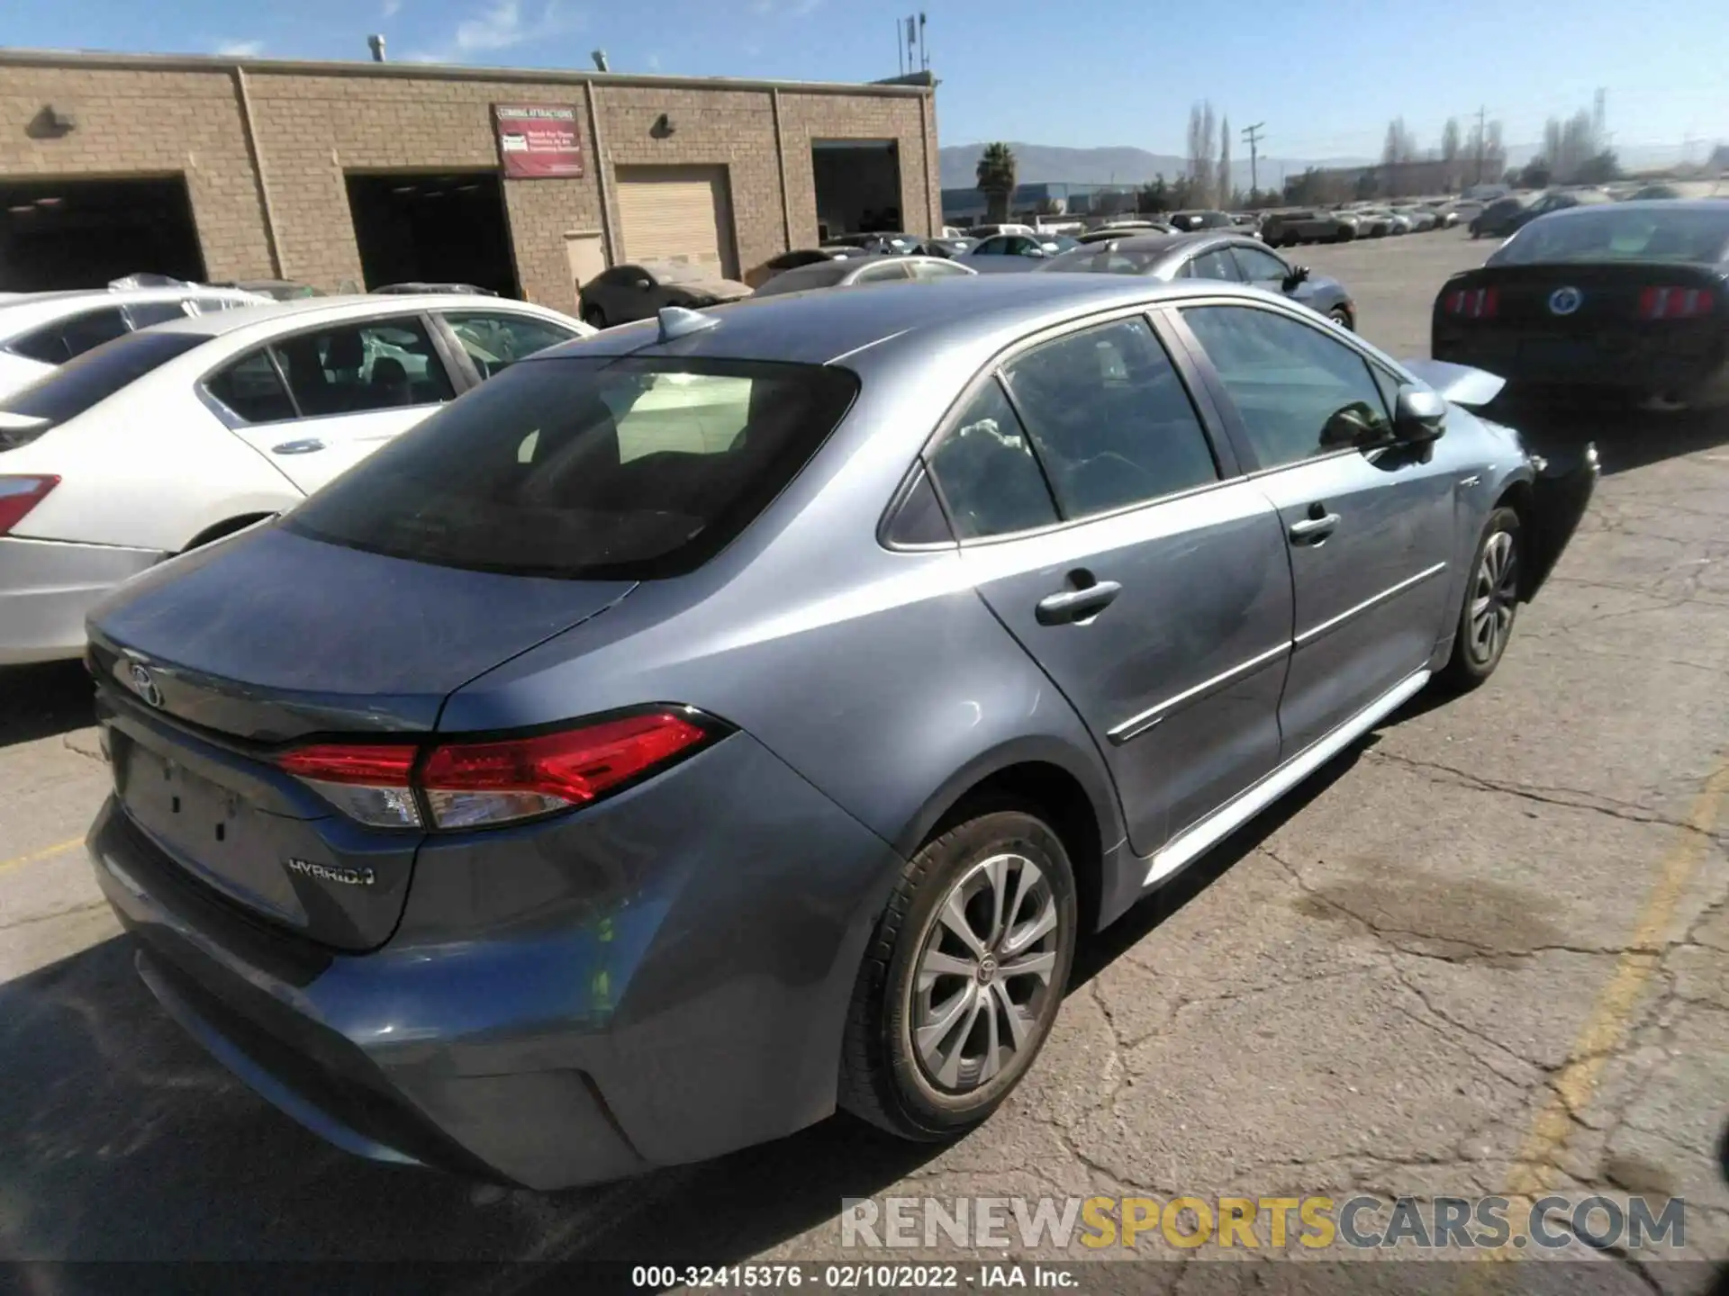
<path id="1" fill-rule="evenodd" d="M 1693 810 L 1686 819 L 1688 829 L 1668 850 L 1658 869 L 1656 883 L 1639 911 L 1639 923 L 1634 926 L 1632 940 L 1617 959 L 1615 971 L 1598 995 L 1596 1007 L 1585 1021 L 1573 1049 L 1572 1059 L 1554 1080 L 1554 1096 L 1537 1113 L 1537 1120 L 1525 1135 L 1518 1161 L 1508 1173 L 1508 1192 L 1520 1206 L 1547 1192 L 1554 1182 L 1554 1158 L 1566 1147 L 1573 1134 L 1572 1113 L 1582 1113 L 1598 1092 L 1603 1070 L 1610 1058 L 1620 1049 L 1632 1020 L 1644 983 L 1656 971 L 1663 956 L 1663 942 L 1675 921 L 1675 909 L 1710 850 L 1712 829 L 1717 826 L 1717 812 L 1722 807 L 1724 793 L 1729 793 L 1729 766 L 1719 769 L 1705 783 Z M 1513 1217 L 1516 1218 L 1516 1217 Z M 1509 1248 L 1482 1253 L 1487 1260 L 1506 1260 L 1513 1255 Z"/>

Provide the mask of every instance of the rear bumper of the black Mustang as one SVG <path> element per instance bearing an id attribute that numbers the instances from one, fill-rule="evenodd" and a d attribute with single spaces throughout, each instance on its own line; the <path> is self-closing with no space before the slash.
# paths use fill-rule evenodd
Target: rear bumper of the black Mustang
<path id="1" fill-rule="evenodd" d="M 1437 330 L 1430 354 L 1487 370 L 1515 385 L 1618 391 L 1696 399 L 1729 392 L 1724 340 L 1679 353 L 1663 339 L 1470 337 Z"/>

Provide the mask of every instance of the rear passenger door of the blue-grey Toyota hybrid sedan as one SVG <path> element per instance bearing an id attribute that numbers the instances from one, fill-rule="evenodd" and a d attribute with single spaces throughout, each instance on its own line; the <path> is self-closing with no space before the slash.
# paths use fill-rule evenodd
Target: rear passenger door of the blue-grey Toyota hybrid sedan
<path id="1" fill-rule="evenodd" d="M 1138 854 L 1274 766 L 1278 518 L 1143 316 L 1013 354 L 928 467 L 980 596 L 1105 753 Z"/>

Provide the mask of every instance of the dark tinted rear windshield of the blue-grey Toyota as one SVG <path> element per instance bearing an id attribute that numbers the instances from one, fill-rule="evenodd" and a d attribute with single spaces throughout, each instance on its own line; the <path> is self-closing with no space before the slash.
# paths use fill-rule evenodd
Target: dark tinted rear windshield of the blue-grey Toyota
<path id="1" fill-rule="evenodd" d="M 287 525 L 443 567 L 681 575 L 780 494 L 856 392 L 852 373 L 814 365 L 534 359 L 363 460 Z"/>

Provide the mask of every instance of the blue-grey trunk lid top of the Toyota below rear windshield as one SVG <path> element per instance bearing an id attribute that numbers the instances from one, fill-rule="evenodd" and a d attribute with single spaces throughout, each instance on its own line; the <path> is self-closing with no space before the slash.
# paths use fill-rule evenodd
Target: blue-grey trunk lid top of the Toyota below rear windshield
<path id="1" fill-rule="evenodd" d="M 629 581 L 470 572 L 254 527 L 128 581 L 90 613 L 90 665 L 161 710 L 280 743 L 420 733 L 475 676 L 624 598 Z"/>

